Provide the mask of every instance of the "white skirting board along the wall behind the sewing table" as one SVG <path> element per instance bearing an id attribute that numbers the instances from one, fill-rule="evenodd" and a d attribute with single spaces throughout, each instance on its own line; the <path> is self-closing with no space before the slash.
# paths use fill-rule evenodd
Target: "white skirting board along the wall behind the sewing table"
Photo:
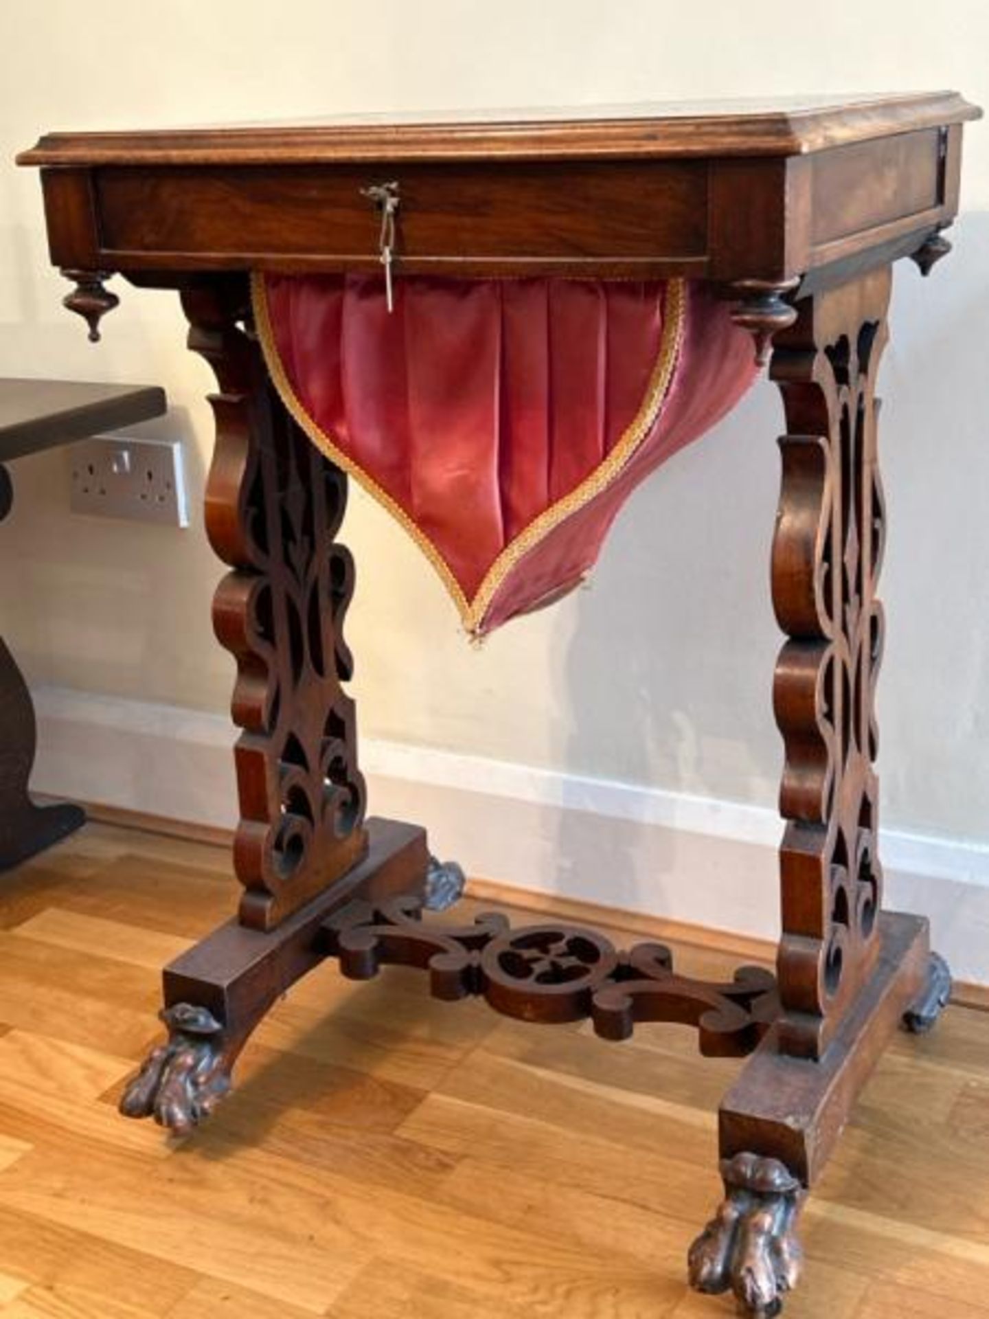
<path id="1" fill-rule="evenodd" d="M 32 786 L 232 827 L 222 715 L 41 687 Z M 375 815 L 425 824 L 468 874 L 757 938 L 778 930 L 775 811 L 363 739 Z M 989 984 L 989 845 L 884 831 L 887 905 L 931 917 L 960 980 Z"/>

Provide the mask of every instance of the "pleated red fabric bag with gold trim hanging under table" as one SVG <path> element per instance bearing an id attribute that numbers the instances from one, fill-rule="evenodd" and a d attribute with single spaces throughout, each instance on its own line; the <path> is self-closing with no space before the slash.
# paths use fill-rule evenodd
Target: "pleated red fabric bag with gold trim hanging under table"
<path id="1" fill-rule="evenodd" d="M 472 633 L 575 586 L 630 491 L 752 383 L 702 284 L 258 276 L 297 421 L 410 532 Z"/>

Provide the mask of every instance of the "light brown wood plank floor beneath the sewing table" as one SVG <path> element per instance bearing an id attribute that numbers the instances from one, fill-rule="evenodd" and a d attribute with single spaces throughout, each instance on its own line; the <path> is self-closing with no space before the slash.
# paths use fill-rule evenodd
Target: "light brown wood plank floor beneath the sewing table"
<path id="1" fill-rule="evenodd" d="M 738 1067 L 691 1031 L 607 1045 L 324 967 L 195 1137 L 119 1117 L 161 964 L 233 900 L 225 851 L 108 826 L 0 880 L 3 1319 L 732 1312 L 684 1285 Z M 989 1319 L 989 1014 L 895 1043 L 804 1241 L 793 1319 Z"/>

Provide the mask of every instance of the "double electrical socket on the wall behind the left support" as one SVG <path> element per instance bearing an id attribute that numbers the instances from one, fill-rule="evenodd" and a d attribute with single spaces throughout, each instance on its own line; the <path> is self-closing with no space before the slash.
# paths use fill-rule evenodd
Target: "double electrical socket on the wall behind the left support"
<path id="1" fill-rule="evenodd" d="M 74 513 L 189 526 L 182 445 L 96 435 L 69 447 Z"/>

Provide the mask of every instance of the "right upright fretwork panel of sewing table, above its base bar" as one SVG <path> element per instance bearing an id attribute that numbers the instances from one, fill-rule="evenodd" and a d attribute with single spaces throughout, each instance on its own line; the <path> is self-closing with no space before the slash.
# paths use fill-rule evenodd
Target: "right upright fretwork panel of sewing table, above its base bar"
<path id="1" fill-rule="evenodd" d="M 876 599 L 885 508 L 876 372 L 890 272 L 799 303 L 771 376 L 789 434 L 773 545 L 773 601 L 789 634 L 774 707 L 786 764 L 781 811 L 781 1047 L 818 1058 L 877 954 L 874 718 L 884 615 Z"/>

